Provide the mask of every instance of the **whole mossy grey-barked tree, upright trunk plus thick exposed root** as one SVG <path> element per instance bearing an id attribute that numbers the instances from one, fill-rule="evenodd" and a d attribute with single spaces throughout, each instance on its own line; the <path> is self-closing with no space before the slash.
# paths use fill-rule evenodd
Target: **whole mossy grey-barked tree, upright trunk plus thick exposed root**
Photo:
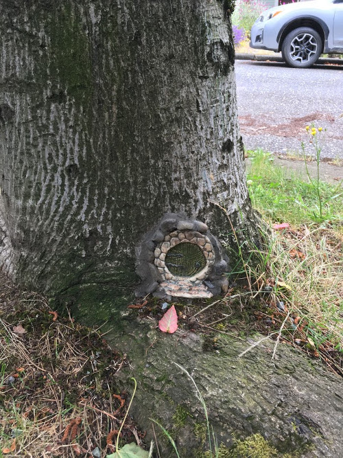
<path id="1" fill-rule="evenodd" d="M 206 432 L 172 360 L 191 372 L 219 442 L 261 433 L 292 457 L 340 457 L 335 376 L 284 345 L 272 360 L 269 341 L 242 358 L 248 343 L 228 336 L 204 352 L 200 336 L 164 335 L 116 308 L 138 282 L 137 244 L 167 212 L 230 242 L 214 202 L 239 243 L 255 235 L 228 6 L 0 0 L 0 262 L 17 282 L 74 301 L 84 321 L 108 320 L 132 362 L 123 387 L 131 375 L 139 384 L 134 417 L 148 437 L 148 418 L 160 421 L 182 458 L 200 456 Z"/>

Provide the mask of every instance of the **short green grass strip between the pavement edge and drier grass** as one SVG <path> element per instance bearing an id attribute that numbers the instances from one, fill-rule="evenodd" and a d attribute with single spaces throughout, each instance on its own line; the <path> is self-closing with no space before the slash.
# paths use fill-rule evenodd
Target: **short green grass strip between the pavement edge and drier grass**
<path id="1" fill-rule="evenodd" d="M 248 155 L 252 205 L 268 222 L 327 222 L 342 231 L 342 183 L 331 185 L 310 177 L 305 181 L 300 173 L 276 167 L 272 154 L 263 150 Z"/>

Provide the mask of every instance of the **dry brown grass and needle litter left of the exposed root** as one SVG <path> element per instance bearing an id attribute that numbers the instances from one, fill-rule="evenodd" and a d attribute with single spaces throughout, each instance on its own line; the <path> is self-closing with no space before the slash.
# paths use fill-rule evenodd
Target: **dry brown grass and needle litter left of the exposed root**
<path id="1" fill-rule="evenodd" d="M 116 386 L 125 356 L 98 331 L 59 319 L 43 297 L 2 279 L 0 442 L 4 452 L 14 449 L 4 456 L 88 457 L 95 448 L 106 456 L 126 411 Z M 122 434 L 141 442 L 130 418 Z"/>

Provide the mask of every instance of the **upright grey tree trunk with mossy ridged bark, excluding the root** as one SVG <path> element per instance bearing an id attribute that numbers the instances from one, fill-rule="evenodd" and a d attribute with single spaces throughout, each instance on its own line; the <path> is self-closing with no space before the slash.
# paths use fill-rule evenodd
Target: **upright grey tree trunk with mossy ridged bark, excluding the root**
<path id="1" fill-rule="evenodd" d="M 167 212 L 255 237 L 229 2 L 0 0 L 0 261 L 78 303 L 126 303 Z"/>

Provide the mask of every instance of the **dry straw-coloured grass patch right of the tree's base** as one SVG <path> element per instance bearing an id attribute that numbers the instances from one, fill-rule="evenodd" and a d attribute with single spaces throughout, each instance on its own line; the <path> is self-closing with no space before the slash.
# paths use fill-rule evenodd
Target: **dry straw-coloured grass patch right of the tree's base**
<path id="1" fill-rule="evenodd" d="M 274 231 L 268 252 L 257 254 L 261 270 L 251 275 L 273 288 L 273 331 L 283 325 L 281 340 L 343 375 L 343 236 L 318 226 Z"/>

